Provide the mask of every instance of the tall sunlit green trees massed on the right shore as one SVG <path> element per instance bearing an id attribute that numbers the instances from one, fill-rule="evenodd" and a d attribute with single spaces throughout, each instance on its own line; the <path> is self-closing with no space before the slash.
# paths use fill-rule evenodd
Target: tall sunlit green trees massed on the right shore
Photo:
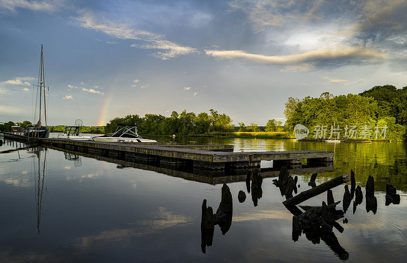
<path id="1" fill-rule="evenodd" d="M 375 86 L 358 95 L 333 96 L 324 92 L 313 98 L 289 97 L 285 103 L 285 128 L 293 131 L 297 123 L 312 133 L 316 126 L 335 124 L 335 127 L 356 125 L 387 126 L 386 139 L 402 140 L 407 126 L 407 87 Z M 343 136 L 344 130 L 341 131 Z"/>

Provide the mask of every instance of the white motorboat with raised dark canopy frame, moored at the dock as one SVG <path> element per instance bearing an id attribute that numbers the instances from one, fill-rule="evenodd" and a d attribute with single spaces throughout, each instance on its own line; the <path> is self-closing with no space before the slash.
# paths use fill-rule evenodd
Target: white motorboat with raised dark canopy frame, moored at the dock
<path id="1" fill-rule="evenodd" d="M 134 130 L 133 130 L 134 129 Z M 102 135 L 93 137 L 92 140 L 96 142 L 126 142 L 126 143 L 139 143 L 139 142 L 157 142 L 142 138 L 137 134 L 137 125 L 119 123 L 118 128 L 114 131 L 112 136 Z"/>

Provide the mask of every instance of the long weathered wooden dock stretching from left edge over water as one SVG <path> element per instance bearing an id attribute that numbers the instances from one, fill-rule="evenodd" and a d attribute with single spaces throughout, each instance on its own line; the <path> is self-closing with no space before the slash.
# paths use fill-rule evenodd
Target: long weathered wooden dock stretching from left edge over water
<path id="1" fill-rule="evenodd" d="M 176 145 L 175 143 L 105 143 L 95 141 L 73 141 L 68 139 L 27 138 L 3 133 L 5 138 L 30 141 L 44 146 L 109 156 L 116 159 L 142 159 L 169 164 L 188 164 L 208 170 L 259 168 L 261 161 L 300 165 L 332 163 L 332 151 L 266 151 L 233 152 L 232 145 Z"/>

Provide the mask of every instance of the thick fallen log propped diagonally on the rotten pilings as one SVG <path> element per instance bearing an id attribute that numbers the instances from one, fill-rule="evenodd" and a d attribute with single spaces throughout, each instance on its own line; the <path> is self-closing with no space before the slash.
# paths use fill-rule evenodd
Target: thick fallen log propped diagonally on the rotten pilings
<path id="1" fill-rule="evenodd" d="M 333 179 L 331 179 L 331 180 L 329 180 L 327 182 L 321 183 L 321 185 L 319 185 L 319 186 L 316 186 L 316 187 L 311 188 L 311 189 L 309 189 L 307 191 L 301 192 L 298 195 L 285 200 L 283 202 L 283 204 L 286 207 L 290 206 L 290 205 L 297 205 L 297 204 L 302 203 L 303 201 L 305 201 L 305 200 L 307 200 L 307 199 L 309 199 L 311 197 L 317 196 L 319 194 L 324 193 L 325 191 L 327 191 L 329 189 L 332 189 L 334 187 L 342 185 L 342 183 L 348 182 L 349 180 L 350 180 L 349 175 L 344 173 L 344 174 L 339 175 L 339 176 L 337 176 L 337 177 L 335 177 L 335 178 L 333 178 Z"/>

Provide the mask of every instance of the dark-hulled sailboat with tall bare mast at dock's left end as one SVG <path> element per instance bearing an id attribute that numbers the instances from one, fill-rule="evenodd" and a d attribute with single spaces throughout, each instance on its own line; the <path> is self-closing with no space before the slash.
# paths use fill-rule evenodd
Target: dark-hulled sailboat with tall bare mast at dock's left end
<path id="1" fill-rule="evenodd" d="M 33 85 L 37 87 L 37 99 L 39 95 L 39 115 L 38 115 L 38 122 L 25 131 L 24 135 L 28 137 L 35 137 L 35 138 L 48 138 L 49 137 L 49 130 L 46 128 L 47 126 L 47 111 L 46 111 L 46 103 L 45 103 L 45 73 L 44 73 L 44 58 L 43 58 L 43 51 L 41 45 L 41 59 L 40 59 L 40 72 L 38 74 L 38 82 L 37 85 Z M 47 87 L 49 90 L 49 87 Z M 41 106 L 42 106 L 42 93 L 44 94 L 44 119 L 45 119 L 45 126 L 42 126 L 41 123 Z M 37 100 L 38 101 L 38 100 Z M 36 120 L 36 111 L 37 111 L 37 103 L 35 106 L 34 111 L 34 120 Z M 34 121 L 35 122 L 35 121 Z"/>

